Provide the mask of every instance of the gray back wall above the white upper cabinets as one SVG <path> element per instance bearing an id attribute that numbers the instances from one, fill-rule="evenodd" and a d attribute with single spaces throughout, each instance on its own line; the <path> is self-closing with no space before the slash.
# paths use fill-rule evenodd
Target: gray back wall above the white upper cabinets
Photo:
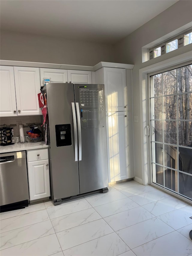
<path id="1" fill-rule="evenodd" d="M 114 62 L 114 46 L 1 31 L 1 60 L 94 66 Z"/>

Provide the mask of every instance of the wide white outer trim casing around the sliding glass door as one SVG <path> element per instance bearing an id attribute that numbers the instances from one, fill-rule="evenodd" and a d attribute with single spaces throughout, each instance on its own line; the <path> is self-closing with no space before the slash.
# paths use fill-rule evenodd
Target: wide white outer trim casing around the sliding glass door
<path id="1" fill-rule="evenodd" d="M 178 49 L 179 51 L 179 49 Z M 181 52 L 181 51 L 179 51 Z M 167 57 L 167 56 L 165 56 Z M 159 57 L 162 59 L 161 57 Z M 158 59 L 158 58 L 157 58 Z M 149 140 L 148 140 L 148 94 L 147 94 L 147 74 L 152 72 L 158 72 L 163 68 L 171 68 L 174 65 L 192 61 L 192 51 L 186 48 L 186 52 L 178 54 L 174 57 L 164 59 L 163 61 L 158 61 L 154 59 L 151 65 L 147 66 L 145 63 L 143 68 L 139 70 L 139 85 L 140 85 L 140 161 L 141 161 L 141 176 L 135 177 L 135 180 L 143 185 L 151 184 L 150 181 L 150 162 L 149 162 Z M 155 63 L 154 63 L 155 61 Z M 160 188 L 158 185 L 153 184 L 154 187 L 166 191 L 164 188 Z M 169 191 L 168 191 L 169 192 Z M 169 192 L 176 196 L 175 193 Z M 181 197 L 181 196 L 180 196 Z M 191 203 L 191 200 L 182 198 L 183 201 Z"/>

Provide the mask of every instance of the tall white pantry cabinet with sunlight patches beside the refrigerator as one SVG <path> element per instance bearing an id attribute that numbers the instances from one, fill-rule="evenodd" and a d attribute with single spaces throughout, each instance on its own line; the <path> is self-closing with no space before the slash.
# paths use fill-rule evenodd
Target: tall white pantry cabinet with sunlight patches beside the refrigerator
<path id="1" fill-rule="evenodd" d="M 128 78 L 129 82 L 130 77 Z M 95 82 L 105 85 L 109 182 L 134 177 L 128 136 L 126 69 L 103 67 L 95 71 Z"/>

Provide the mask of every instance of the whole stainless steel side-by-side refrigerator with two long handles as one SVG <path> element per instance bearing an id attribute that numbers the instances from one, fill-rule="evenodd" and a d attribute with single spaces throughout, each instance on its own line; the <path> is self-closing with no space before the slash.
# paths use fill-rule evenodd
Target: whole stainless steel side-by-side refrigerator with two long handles
<path id="1" fill-rule="evenodd" d="M 55 205 L 84 193 L 107 192 L 104 85 L 47 83 L 43 93 Z"/>

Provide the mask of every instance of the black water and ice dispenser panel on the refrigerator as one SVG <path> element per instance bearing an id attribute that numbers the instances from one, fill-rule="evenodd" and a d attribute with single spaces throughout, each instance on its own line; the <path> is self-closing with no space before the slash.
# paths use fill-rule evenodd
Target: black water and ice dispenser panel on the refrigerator
<path id="1" fill-rule="evenodd" d="M 57 147 L 72 145 L 70 124 L 55 125 L 55 135 Z"/>

